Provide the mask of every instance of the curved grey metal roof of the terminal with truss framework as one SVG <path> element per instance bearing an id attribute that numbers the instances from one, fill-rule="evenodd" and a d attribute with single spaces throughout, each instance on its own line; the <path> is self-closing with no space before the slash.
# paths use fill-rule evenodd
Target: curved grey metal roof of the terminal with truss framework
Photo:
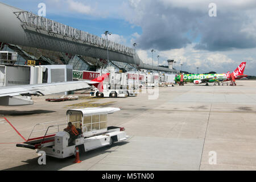
<path id="1" fill-rule="evenodd" d="M 1 2 L 0 24 L 0 42 L 101 59 L 108 57 L 105 39 Z M 109 60 L 135 64 L 140 69 L 176 72 L 175 69 L 144 64 L 132 48 L 113 42 L 109 42 Z"/>

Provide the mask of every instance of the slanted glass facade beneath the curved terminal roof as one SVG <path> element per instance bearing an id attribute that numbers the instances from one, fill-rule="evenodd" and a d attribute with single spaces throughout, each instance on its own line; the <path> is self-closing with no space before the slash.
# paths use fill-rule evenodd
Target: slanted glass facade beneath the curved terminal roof
<path id="1" fill-rule="evenodd" d="M 106 61 L 101 58 L 72 55 L 64 52 L 49 51 L 34 47 L 5 44 L 1 51 L 14 51 L 18 53 L 16 64 L 26 65 L 28 60 L 35 60 L 36 65 L 70 64 L 73 70 L 96 71 L 98 68 L 115 67 L 122 72 L 138 71 L 136 65 L 118 61 Z"/>

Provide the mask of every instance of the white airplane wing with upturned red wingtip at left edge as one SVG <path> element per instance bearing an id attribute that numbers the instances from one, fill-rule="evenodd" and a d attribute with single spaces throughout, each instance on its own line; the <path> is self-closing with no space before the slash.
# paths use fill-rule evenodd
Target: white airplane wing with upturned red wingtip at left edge
<path id="1" fill-rule="evenodd" d="M 67 92 L 71 90 L 80 90 L 90 88 L 90 85 L 96 86 L 100 92 L 103 91 L 102 81 L 109 76 L 106 73 L 91 81 L 67 81 L 53 82 L 48 84 L 19 85 L 19 86 L 1 86 L 0 87 L 0 106 L 23 106 L 32 105 L 31 96 L 45 96 L 54 93 Z"/>

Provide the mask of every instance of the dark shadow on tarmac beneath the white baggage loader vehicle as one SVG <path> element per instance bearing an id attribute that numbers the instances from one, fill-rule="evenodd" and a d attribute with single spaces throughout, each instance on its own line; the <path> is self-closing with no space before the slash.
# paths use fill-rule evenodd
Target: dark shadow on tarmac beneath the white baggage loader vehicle
<path id="1" fill-rule="evenodd" d="M 113 147 L 122 146 L 126 143 L 129 143 L 129 142 L 125 142 L 125 141 L 118 142 L 118 143 L 114 143 L 111 148 L 109 146 L 105 146 L 102 148 L 94 149 L 92 151 L 80 153 L 80 160 L 82 162 L 86 163 L 87 159 L 94 158 L 97 155 L 103 155 L 106 153 L 115 152 L 114 150 L 111 150 Z M 57 159 L 57 158 L 53 158 L 51 156 L 46 156 L 46 165 L 43 165 L 43 164 L 39 165 L 38 158 L 22 161 L 27 164 L 24 164 L 22 166 L 8 168 L 8 169 L 3 169 L 2 171 L 57 171 L 59 169 L 62 169 L 64 167 L 72 165 L 73 161 L 75 160 L 75 156 L 69 156 L 68 158 L 65 158 L 65 159 Z M 104 158 L 104 156 L 102 156 L 101 159 L 103 159 L 103 158 Z M 101 159 L 98 159 L 98 160 L 101 160 Z M 92 163 L 92 162 L 90 162 L 90 163 Z M 93 162 L 93 163 L 97 163 L 97 162 Z M 68 169 L 68 170 L 72 170 L 72 169 Z M 74 169 L 74 171 L 75 170 L 76 169 Z M 81 170 L 85 170 L 85 169 L 81 168 Z"/>

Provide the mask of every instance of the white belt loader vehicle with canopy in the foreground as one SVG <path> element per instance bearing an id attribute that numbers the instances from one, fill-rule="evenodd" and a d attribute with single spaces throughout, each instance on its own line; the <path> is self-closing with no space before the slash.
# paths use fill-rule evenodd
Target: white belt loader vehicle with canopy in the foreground
<path id="1" fill-rule="evenodd" d="M 125 128 L 108 127 L 108 114 L 119 110 L 115 107 L 67 110 L 65 123 L 36 124 L 28 140 L 16 144 L 16 146 L 36 149 L 37 153 L 44 151 L 46 155 L 59 159 L 75 155 L 76 147 L 79 147 L 81 152 L 86 152 L 104 146 L 112 146 L 114 142 L 121 142 L 129 138 L 125 133 Z M 79 131 L 79 135 L 73 141 L 69 140 L 69 133 L 63 131 L 68 122 L 72 122 L 72 125 Z M 42 132 L 45 132 L 43 137 L 31 138 L 32 135 Z"/>

